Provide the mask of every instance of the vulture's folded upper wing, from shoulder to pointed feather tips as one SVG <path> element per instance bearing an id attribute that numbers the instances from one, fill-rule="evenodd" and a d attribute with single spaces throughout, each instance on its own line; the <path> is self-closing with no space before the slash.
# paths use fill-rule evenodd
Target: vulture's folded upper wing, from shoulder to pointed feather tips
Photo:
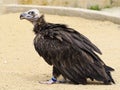
<path id="1" fill-rule="evenodd" d="M 54 37 L 61 42 L 68 42 L 77 51 L 83 50 L 96 58 L 100 59 L 95 52 L 102 54 L 99 48 L 97 48 L 87 37 L 78 33 L 77 31 L 67 28 L 58 27 L 52 28 L 50 31 L 50 37 Z"/>

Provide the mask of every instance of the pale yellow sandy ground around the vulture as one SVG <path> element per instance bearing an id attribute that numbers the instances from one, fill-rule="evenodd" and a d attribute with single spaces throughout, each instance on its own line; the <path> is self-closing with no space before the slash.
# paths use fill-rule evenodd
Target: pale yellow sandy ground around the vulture
<path id="1" fill-rule="evenodd" d="M 32 24 L 17 13 L 0 15 L 0 90 L 120 90 L 120 25 L 57 15 L 46 15 L 46 20 L 68 24 L 94 42 L 104 62 L 115 68 L 116 84 L 40 84 L 51 78 L 52 68 L 34 50 Z"/>

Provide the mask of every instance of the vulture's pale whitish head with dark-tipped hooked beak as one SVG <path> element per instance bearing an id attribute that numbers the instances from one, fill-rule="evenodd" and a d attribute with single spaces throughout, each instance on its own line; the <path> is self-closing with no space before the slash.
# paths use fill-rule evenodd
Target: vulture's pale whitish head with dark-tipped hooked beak
<path id="1" fill-rule="evenodd" d="M 43 14 L 40 14 L 38 9 L 31 9 L 29 11 L 23 12 L 22 14 L 20 14 L 20 19 L 26 19 L 28 21 L 30 21 L 33 24 L 36 24 L 37 21 L 43 17 Z"/>

